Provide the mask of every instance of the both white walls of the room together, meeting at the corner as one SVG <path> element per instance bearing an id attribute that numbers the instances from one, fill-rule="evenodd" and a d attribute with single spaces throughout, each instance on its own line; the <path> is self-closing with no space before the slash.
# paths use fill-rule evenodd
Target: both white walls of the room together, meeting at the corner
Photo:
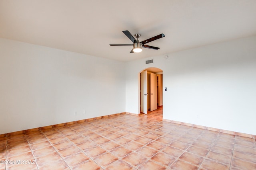
<path id="1" fill-rule="evenodd" d="M 139 72 L 158 67 L 164 119 L 256 135 L 256 36 L 168 55 L 122 63 L 0 39 L 0 134 L 139 113 Z"/>

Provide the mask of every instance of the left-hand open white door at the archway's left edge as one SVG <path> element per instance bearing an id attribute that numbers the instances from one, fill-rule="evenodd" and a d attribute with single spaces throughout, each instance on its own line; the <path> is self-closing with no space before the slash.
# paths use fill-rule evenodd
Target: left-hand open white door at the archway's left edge
<path id="1" fill-rule="evenodd" d="M 147 114 L 147 71 L 140 73 L 140 111 Z"/>

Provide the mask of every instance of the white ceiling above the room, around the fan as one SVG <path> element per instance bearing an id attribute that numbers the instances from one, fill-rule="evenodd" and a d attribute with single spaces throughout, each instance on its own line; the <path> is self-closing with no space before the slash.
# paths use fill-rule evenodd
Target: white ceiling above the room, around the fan
<path id="1" fill-rule="evenodd" d="M 122 33 L 140 41 L 166 37 L 130 53 Z M 256 0 L 0 0 L 0 37 L 132 61 L 256 35 Z"/>

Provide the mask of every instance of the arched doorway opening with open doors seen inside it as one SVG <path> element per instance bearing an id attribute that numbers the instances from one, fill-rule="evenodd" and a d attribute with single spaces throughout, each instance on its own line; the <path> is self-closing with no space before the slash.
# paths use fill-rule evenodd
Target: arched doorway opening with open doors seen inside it
<path id="1" fill-rule="evenodd" d="M 162 107 L 163 71 L 156 67 L 146 68 L 139 73 L 139 81 L 139 112 L 147 114 Z"/>

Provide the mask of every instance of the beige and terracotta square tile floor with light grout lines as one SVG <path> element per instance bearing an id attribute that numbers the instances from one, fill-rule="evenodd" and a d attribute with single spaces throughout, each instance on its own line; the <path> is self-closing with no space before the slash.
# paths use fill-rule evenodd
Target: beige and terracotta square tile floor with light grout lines
<path id="1" fill-rule="evenodd" d="M 256 143 L 163 122 L 160 107 L 5 137 L 0 160 L 1 170 L 255 170 Z"/>

